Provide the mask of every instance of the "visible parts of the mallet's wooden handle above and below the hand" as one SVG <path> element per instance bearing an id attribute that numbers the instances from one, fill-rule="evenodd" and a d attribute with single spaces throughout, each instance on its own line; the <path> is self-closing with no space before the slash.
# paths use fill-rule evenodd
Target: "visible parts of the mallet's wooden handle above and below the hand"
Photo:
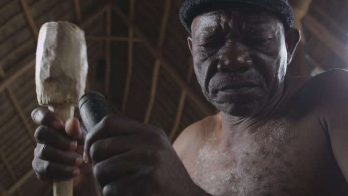
<path id="1" fill-rule="evenodd" d="M 48 106 L 52 113 L 60 118 L 63 123 L 74 116 L 73 105 L 54 105 Z M 54 196 L 73 196 L 73 181 L 72 179 L 54 179 L 53 181 Z"/>

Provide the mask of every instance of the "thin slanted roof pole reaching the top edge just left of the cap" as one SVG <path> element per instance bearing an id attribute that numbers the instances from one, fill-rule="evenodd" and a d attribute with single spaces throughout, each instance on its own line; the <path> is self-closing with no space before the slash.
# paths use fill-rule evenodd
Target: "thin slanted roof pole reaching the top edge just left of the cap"
<path id="1" fill-rule="evenodd" d="M 169 14 L 170 14 L 171 2 L 172 2 L 172 0 L 166 0 L 165 5 L 164 5 L 164 11 L 163 11 L 164 15 L 162 17 L 161 29 L 160 29 L 160 33 L 159 33 L 159 37 L 158 37 L 158 41 L 157 41 L 157 49 L 159 51 L 162 50 L 162 46 L 163 46 L 163 42 L 164 42 L 165 30 L 167 29 L 167 23 L 168 23 Z M 153 76 L 152 76 L 150 100 L 149 100 L 148 108 L 146 110 L 144 123 L 149 122 L 150 116 L 152 113 L 152 108 L 153 108 L 154 103 L 155 103 L 160 66 L 161 66 L 161 61 L 159 59 L 157 59 L 155 62 L 153 73 L 152 73 Z"/>

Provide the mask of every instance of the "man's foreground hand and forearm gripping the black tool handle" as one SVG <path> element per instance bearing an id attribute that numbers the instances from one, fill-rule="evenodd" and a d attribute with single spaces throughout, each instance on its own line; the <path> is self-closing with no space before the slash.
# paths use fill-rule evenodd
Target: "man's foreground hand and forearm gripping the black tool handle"
<path id="1" fill-rule="evenodd" d="M 86 136 L 84 160 L 104 196 L 206 195 L 191 180 L 164 131 L 107 116 Z"/>

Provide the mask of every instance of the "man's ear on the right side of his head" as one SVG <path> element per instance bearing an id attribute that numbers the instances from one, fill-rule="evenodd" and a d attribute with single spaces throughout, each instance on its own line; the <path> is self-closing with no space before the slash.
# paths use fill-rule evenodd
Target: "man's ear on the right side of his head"
<path id="1" fill-rule="evenodd" d="M 287 50 L 287 64 L 293 60 L 294 52 L 301 39 L 300 30 L 292 27 L 285 32 L 285 44 Z"/>

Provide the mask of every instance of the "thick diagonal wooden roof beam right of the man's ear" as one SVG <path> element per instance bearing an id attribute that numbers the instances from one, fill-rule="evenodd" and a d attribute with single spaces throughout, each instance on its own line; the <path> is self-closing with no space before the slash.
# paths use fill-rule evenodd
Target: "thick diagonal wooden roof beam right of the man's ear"
<path id="1" fill-rule="evenodd" d="M 307 14 L 305 20 L 308 31 L 315 35 L 315 37 L 322 41 L 328 48 L 334 51 L 348 67 L 348 46 L 332 35 L 331 32 L 329 32 L 311 14 Z"/>

